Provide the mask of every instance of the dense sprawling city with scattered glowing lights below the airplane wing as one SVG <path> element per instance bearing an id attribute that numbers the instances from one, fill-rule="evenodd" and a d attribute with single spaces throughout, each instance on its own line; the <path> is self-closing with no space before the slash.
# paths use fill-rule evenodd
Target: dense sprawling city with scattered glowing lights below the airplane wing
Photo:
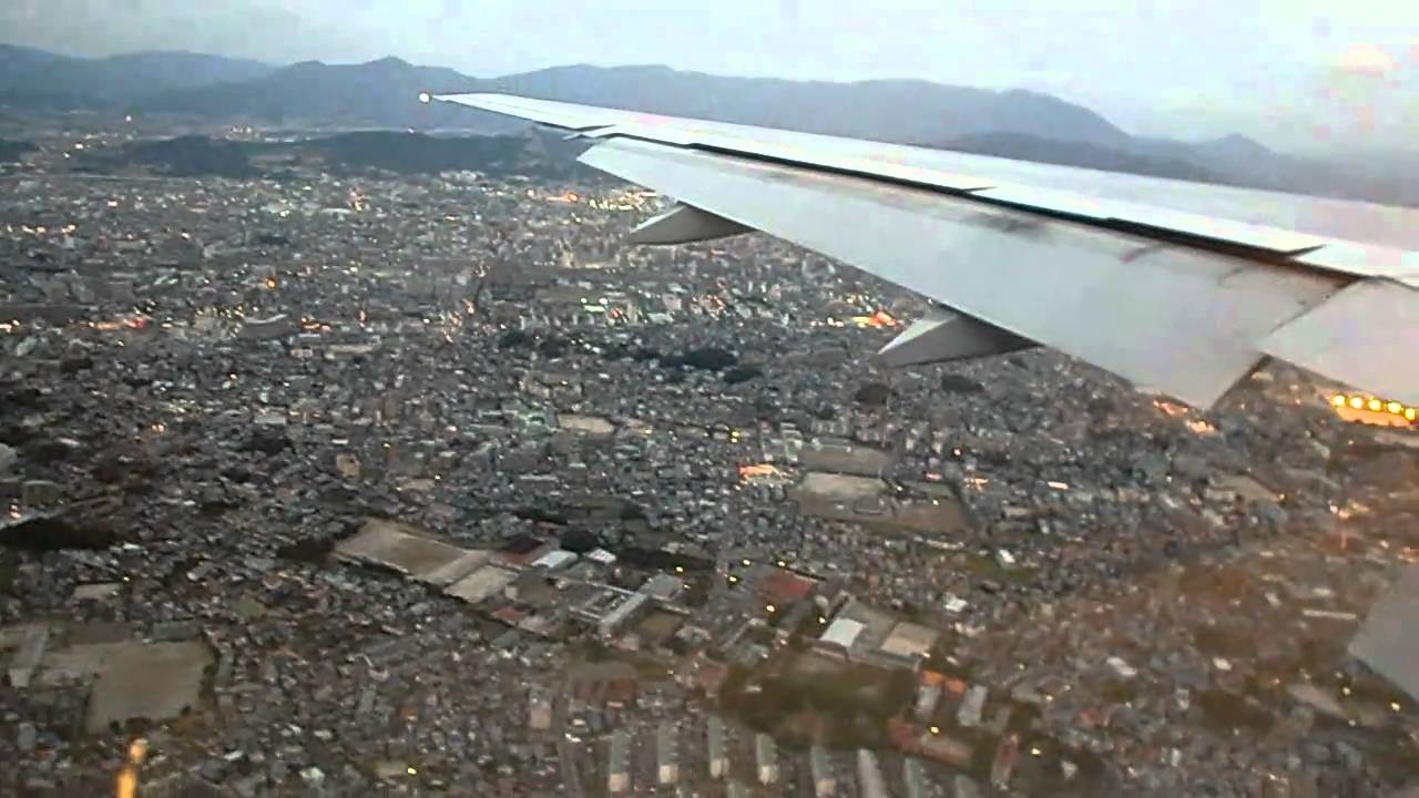
<path id="1" fill-rule="evenodd" d="M 1277 365 L 1202 413 L 1050 349 L 881 369 L 920 297 L 758 234 L 624 246 L 667 206 L 634 186 L 74 169 L 125 124 L 26 122 L 0 175 L 7 794 L 1419 768 L 1419 703 L 1352 655 L 1419 561 L 1419 437 L 1334 386 Z"/>

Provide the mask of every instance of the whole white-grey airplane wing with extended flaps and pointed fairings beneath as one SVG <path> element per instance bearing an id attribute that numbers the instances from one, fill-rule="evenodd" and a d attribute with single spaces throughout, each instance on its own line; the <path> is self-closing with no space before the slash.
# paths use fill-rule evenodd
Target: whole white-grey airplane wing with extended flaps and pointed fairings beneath
<path id="1" fill-rule="evenodd" d="M 1419 405 L 1419 210 L 499 94 L 675 197 L 631 241 L 761 230 L 942 305 L 887 364 L 1046 345 L 1210 406 L 1266 358 Z"/>

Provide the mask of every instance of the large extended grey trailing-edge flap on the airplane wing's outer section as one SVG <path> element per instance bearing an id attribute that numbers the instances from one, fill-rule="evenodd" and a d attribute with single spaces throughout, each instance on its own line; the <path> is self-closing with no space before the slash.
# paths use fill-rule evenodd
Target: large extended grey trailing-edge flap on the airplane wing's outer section
<path id="1" fill-rule="evenodd" d="M 582 160 L 1199 406 L 1257 366 L 1257 341 L 1340 287 L 1323 273 L 783 163 L 624 139 Z"/>

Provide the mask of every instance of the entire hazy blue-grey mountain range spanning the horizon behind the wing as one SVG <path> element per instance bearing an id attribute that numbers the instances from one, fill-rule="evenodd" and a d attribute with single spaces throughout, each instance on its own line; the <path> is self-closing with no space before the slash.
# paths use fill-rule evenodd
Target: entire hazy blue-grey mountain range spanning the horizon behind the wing
<path id="1" fill-rule="evenodd" d="M 271 65 L 193 53 L 74 58 L 0 45 L 0 108 L 173 114 L 308 128 L 515 132 L 525 124 L 424 105 L 420 91 L 505 91 L 998 155 L 1347 199 L 1419 206 L 1415 162 L 1331 163 L 1280 153 L 1246 136 L 1183 142 L 1132 136 L 1094 111 L 1032 91 L 989 91 L 928 81 L 786 81 L 677 71 L 658 65 L 568 65 L 498 78 L 419 67 Z"/>

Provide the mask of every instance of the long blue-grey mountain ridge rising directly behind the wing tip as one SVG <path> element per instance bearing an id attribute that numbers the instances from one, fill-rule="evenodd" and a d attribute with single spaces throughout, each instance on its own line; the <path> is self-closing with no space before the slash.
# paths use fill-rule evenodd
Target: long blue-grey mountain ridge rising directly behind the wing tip
<path id="1" fill-rule="evenodd" d="M 277 124 L 393 128 L 519 126 L 492 114 L 421 105 L 420 91 L 505 91 L 546 99 L 589 102 L 809 132 L 929 145 L 972 132 L 1037 133 L 1098 145 L 1122 145 L 1128 135 L 1087 108 L 1026 92 L 995 92 L 925 81 L 854 84 L 732 78 L 668 67 L 556 67 L 478 80 L 453 70 L 416 67 L 399 58 L 368 64 L 294 64 L 257 80 L 162 92 L 135 104 L 139 111 L 251 118 Z"/>

